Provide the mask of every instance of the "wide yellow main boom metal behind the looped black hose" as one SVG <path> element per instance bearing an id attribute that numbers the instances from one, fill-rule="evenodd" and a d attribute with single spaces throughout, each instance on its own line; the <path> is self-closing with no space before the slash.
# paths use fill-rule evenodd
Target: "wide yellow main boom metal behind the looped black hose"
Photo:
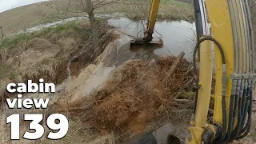
<path id="1" fill-rule="evenodd" d="M 228 115 L 230 107 L 230 94 L 232 89 L 232 80 L 230 79 L 230 74 L 234 73 L 234 44 L 228 2 L 223 0 L 206 0 L 206 7 L 209 14 L 213 38 L 215 38 L 222 45 L 224 54 L 226 56 L 226 74 L 228 78 L 226 85 L 226 112 Z M 215 63 L 216 95 L 214 97 L 215 102 L 213 121 L 222 124 L 222 57 L 217 46 L 215 46 Z"/>

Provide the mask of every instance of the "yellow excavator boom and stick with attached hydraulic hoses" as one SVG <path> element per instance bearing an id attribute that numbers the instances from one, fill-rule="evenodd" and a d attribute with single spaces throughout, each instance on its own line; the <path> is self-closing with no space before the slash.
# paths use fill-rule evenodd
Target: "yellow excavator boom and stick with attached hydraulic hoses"
<path id="1" fill-rule="evenodd" d="M 159 5 L 160 0 L 151 1 L 144 38 L 135 43 L 152 41 Z M 187 144 L 229 143 L 250 132 L 255 50 L 248 5 L 247 0 L 194 0 L 198 42 L 193 56 L 194 113 Z M 197 54 L 200 70 L 196 66 Z M 214 72 L 215 94 L 211 95 Z M 212 123 L 207 123 L 210 98 L 214 98 L 214 117 Z"/>

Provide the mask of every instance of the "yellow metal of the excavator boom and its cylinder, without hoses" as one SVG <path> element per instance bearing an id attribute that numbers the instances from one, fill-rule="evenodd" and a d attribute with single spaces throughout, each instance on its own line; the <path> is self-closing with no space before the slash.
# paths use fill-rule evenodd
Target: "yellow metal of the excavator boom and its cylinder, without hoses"
<path id="1" fill-rule="evenodd" d="M 232 80 L 230 74 L 234 73 L 234 43 L 232 35 L 232 26 L 230 22 L 230 11 L 228 2 L 223 0 L 206 0 L 207 12 L 209 14 L 213 38 L 222 46 L 226 57 L 226 75 L 228 77 L 226 84 L 226 114 L 229 115 L 230 94 L 232 89 Z M 216 9 L 218 7 L 218 9 Z M 198 105 L 194 122 L 191 122 L 189 130 L 190 136 L 186 138 L 186 143 L 201 143 L 202 134 L 205 130 L 206 118 L 210 104 L 210 90 L 212 78 L 212 55 L 211 42 L 202 42 L 200 54 L 200 78 L 201 87 L 198 93 Z M 216 86 L 214 95 L 214 122 L 222 126 L 222 57 L 217 46 L 215 51 L 216 68 Z M 227 117 L 228 120 L 228 117 Z"/>

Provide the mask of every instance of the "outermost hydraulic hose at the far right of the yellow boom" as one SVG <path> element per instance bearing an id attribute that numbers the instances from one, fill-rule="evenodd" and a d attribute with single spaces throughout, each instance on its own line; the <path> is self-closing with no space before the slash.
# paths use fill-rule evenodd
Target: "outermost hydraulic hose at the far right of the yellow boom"
<path id="1" fill-rule="evenodd" d="M 254 77 L 254 33 L 252 30 L 252 24 L 250 20 L 250 10 L 248 6 L 248 2 L 246 0 L 246 3 L 242 1 L 242 6 L 245 7 L 245 16 L 246 20 L 246 31 L 247 31 L 247 49 L 246 49 L 246 71 L 249 73 L 249 79 L 246 79 L 246 86 L 243 93 L 243 99 L 242 99 L 242 116 L 239 115 L 238 118 L 238 129 L 234 130 L 234 136 L 232 140 L 234 139 L 242 139 L 246 137 L 246 135 L 250 132 L 250 126 L 251 126 L 251 115 L 252 115 L 252 105 L 253 105 L 253 77 Z M 249 26 L 248 26 L 249 24 Z M 249 27 L 249 28 L 248 28 Z M 252 58 L 250 58 L 252 56 Z M 246 116 L 247 117 L 247 123 L 246 126 Z"/>

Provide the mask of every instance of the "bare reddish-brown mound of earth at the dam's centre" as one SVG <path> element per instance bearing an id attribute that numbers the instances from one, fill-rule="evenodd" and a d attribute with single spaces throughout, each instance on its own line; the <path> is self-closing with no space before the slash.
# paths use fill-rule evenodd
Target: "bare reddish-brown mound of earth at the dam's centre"
<path id="1" fill-rule="evenodd" d="M 102 100 L 95 109 L 97 125 L 140 132 L 147 122 L 170 111 L 176 92 L 192 78 L 191 73 L 186 74 L 189 62 L 183 59 L 172 78 L 162 81 L 174 59 L 132 60 L 114 71 L 106 87 L 95 95 Z"/>

